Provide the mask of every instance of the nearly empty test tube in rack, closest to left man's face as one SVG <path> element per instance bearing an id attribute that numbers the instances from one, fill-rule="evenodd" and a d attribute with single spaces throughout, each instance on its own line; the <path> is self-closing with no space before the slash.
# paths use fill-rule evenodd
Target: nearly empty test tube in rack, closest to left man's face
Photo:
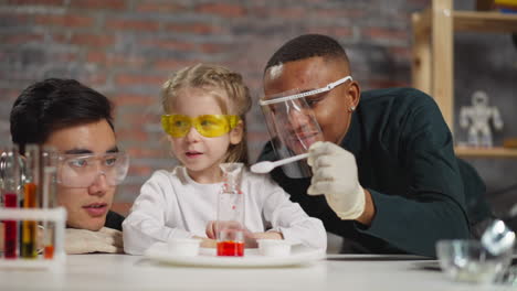
<path id="1" fill-rule="evenodd" d="M 50 209 L 56 207 L 56 151 L 52 147 L 43 148 L 41 154 L 43 166 L 43 188 L 42 188 L 42 208 Z M 43 257 L 45 259 L 54 258 L 54 233 L 55 224 L 52 222 L 43 220 Z"/>

